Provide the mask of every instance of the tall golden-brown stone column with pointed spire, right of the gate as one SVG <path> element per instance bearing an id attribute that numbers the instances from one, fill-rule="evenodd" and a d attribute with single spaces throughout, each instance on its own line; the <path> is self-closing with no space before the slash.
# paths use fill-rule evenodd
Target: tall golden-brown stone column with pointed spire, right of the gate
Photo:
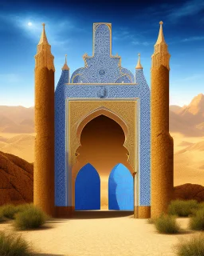
<path id="1" fill-rule="evenodd" d="M 173 138 L 169 134 L 169 59 L 159 22 L 151 56 L 151 218 L 167 212 L 174 189 Z"/>

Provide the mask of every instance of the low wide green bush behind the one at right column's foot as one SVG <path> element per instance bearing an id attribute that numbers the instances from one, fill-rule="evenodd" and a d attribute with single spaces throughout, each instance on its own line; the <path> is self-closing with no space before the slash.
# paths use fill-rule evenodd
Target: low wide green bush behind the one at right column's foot
<path id="1" fill-rule="evenodd" d="M 168 207 L 168 214 L 179 217 L 187 217 L 198 210 L 199 204 L 196 200 L 175 200 L 171 201 Z"/>

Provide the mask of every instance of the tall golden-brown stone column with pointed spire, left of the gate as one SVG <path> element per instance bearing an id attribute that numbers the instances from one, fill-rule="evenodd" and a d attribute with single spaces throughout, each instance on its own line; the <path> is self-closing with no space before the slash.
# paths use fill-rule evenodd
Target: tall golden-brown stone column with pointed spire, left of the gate
<path id="1" fill-rule="evenodd" d="M 33 202 L 54 216 L 54 64 L 45 23 L 35 55 L 35 162 Z"/>

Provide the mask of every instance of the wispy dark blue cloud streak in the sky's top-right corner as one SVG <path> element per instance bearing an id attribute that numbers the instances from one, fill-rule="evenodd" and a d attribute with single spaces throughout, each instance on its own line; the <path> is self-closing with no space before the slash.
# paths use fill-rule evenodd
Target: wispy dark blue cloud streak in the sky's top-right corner
<path id="1" fill-rule="evenodd" d="M 188 2 L 185 2 L 180 7 L 175 6 L 174 8 L 172 8 L 167 17 L 171 18 L 172 21 L 177 21 L 179 18 L 198 14 L 202 10 L 204 10 L 203 0 L 190 0 Z"/>

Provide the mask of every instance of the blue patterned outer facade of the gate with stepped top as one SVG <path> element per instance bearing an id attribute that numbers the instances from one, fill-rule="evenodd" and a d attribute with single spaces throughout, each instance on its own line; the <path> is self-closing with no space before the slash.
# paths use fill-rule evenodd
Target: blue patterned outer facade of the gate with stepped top
<path id="1" fill-rule="evenodd" d="M 62 70 L 55 91 L 55 204 L 68 206 L 68 155 L 66 138 L 66 101 L 72 98 L 118 99 L 138 98 L 139 102 L 139 206 L 151 202 L 151 116 L 150 89 L 143 69 L 131 71 L 121 67 L 121 58 L 112 56 L 112 26 L 93 24 L 93 54 L 84 54 L 85 66 L 73 72 Z"/>

